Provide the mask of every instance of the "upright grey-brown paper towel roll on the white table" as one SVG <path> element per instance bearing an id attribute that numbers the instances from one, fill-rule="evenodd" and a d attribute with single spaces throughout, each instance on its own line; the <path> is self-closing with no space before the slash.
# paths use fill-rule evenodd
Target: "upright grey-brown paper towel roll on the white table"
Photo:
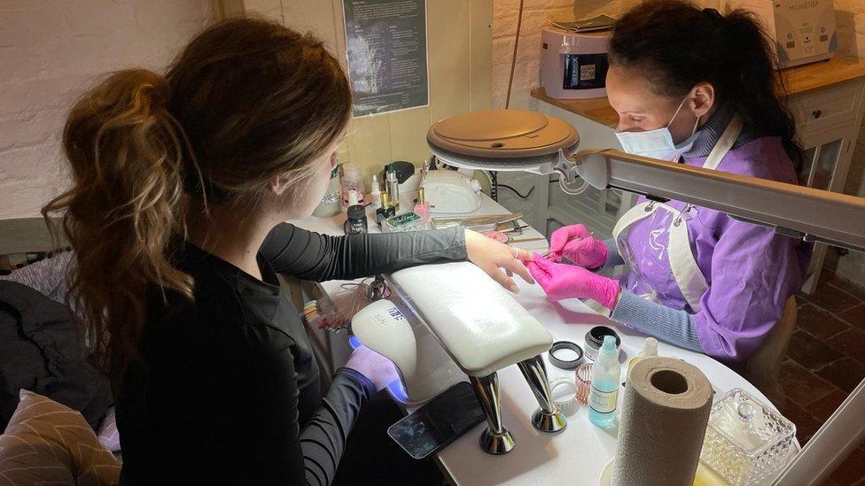
<path id="1" fill-rule="evenodd" d="M 705 374 L 681 359 L 640 359 L 628 372 L 612 483 L 690 486 L 712 407 Z"/>

